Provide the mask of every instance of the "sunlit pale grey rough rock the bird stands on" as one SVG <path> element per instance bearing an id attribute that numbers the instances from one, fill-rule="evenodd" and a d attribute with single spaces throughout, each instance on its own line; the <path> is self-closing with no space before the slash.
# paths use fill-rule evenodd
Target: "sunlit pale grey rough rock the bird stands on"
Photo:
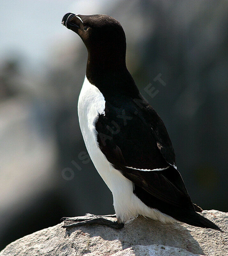
<path id="1" fill-rule="evenodd" d="M 163 224 L 144 217 L 120 230 L 99 225 L 66 230 L 60 223 L 16 240 L 0 256 L 228 255 L 228 213 L 210 210 L 202 215 L 224 233 L 179 222 Z"/>

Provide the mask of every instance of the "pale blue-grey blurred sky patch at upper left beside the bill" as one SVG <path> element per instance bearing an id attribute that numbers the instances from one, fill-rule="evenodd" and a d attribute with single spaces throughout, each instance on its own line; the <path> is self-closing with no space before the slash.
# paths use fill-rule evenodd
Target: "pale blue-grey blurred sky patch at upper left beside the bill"
<path id="1" fill-rule="evenodd" d="M 23 57 L 30 65 L 46 61 L 52 45 L 71 36 L 62 26 L 65 13 L 105 12 L 111 0 L 0 0 L 0 61 Z"/>

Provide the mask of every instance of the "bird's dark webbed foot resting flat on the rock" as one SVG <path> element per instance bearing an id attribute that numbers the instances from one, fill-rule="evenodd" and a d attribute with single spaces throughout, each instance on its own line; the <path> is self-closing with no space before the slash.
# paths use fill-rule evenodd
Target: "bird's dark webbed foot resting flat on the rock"
<path id="1" fill-rule="evenodd" d="M 124 223 L 120 223 L 118 220 L 112 221 L 108 220 L 106 218 L 116 218 L 116 215 L 94 215 L 87 213 L 86 216 L 80 216 L 80 217 L 63 217 L 61 220 L 64 221 L 64 225 L 62 228 L 73 228 L 73 227 L 78 227 L 78 226 L 85 226 L 85 225 L 93 225 L 93 224 L 98 224 L 98 225 L 103 225 L 103 226 L 108 226 L 111 228 L 123 228 Z"/>

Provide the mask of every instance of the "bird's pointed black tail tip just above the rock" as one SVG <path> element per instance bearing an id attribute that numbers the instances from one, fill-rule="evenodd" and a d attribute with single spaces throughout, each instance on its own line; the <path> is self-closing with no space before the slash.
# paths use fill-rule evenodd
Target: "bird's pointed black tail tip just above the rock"
<path id="1" fill-rule="evenodd" d="M 208 220 L 207 218 L 201 216 L 199 213 L 194 211 L 188 212 L 187 214 L 184 213 L 179 219 L 179 221 L 185 222 L 195 227 L 212 228 L 224 232 L 212 221 Z"/>

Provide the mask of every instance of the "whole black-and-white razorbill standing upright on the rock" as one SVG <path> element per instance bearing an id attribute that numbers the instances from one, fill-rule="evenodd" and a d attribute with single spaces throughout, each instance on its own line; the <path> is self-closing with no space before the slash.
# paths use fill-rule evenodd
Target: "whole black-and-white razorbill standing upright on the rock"
<path id="1" fill-rule="evenodd" d="M 116 213 L 64 217 L 63 228 L 101 224 L 118 229 L 141 215 L 222 231 L 198 213 L 202 209 L 187 192 L 166 127 L 126 67 L 121 24 L 104 14 L 72 12 L 62 24 L 87 48 L 78 101 L 80 129 L 96 170 L 112 192 Z"/>

